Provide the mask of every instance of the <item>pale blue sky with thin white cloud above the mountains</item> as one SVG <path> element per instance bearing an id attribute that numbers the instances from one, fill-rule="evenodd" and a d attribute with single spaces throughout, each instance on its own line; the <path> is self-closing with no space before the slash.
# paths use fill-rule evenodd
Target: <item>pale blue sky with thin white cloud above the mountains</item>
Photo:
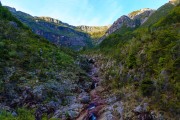
<path id="1" fill-rule="evenodd" d="M 71 25 L 102 26 L 122 15 L 142 9 L 157 9 L 168 0 L 1 0 L 3 5 L 33 16 L 49 16 Z"/>

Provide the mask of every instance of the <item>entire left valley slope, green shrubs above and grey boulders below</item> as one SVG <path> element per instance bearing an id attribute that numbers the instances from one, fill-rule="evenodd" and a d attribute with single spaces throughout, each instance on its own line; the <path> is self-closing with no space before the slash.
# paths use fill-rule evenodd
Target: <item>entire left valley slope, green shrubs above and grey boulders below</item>
<path id="1" fill-rule="evenodd" d="M 81 111 L 77 98 L 90 83 L 78 54 L 32 33 L 2 6 L 0 49 L 1 120 L 74 119 Z"/>

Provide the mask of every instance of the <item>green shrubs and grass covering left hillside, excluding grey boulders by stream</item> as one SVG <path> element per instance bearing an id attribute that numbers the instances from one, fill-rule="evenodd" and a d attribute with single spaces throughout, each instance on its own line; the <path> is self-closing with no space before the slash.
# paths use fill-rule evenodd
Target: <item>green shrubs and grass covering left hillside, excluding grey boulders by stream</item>
<path id="1" fill-rule="evenodd" d="M 36 102 L 46 104 L 59 99 L 67 101 L 66 96 L 74 94 L 70 90 L 70 85 L 78 80 L 80 75 L 83 80 L 88 80 L 85 71 L 76 63 L 78 55 L 76 52 L 57 47 L 35 35 L 2 6 L 0 6 L 0 49 L 0 103 L 6 103 L 7 106 L 10 106 L 14 99 L 24 98 L 24 94 L 28 96 L 29 93 L 23 92 L 27 87 L 31 90 L 37 87 L 44 88 L 45 94 L 43 93 L 41 100 L 31 94 L 33 104 Z M 64 82 L 70 85 L 62 91 L 60 88 L 63 88 Z M 0 108 L 0 119 L 33 120 L 34 110 L 31 111 L 28 107 L 21 109 L 24 105 L 21 102 L 24 101 L 27 102 L 25 99 L 19 101 L 19 105 L 13 106 L 17 117 Z"/>

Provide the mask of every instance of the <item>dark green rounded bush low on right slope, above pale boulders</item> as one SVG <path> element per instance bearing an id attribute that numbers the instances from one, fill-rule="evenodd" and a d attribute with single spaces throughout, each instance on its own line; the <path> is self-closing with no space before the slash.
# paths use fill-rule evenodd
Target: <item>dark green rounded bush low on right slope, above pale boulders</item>
<path id="1" fill-rule="evenodd" d="M 155 89 L 154 82 L 149 79 L 143 80 L 140 89 L 143 96 L 151 96 Z"/>

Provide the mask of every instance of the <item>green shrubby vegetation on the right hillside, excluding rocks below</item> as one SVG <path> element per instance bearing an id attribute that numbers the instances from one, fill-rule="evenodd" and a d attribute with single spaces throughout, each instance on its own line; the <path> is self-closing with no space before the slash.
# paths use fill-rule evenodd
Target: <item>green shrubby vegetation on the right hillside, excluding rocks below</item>
<path id="1" fill-rule="evenodd" d="M 179 11 L 179 5 L 166 4 L 142 27 L 132 30 L 124 26 L 94 51 L 116 61 L 105 74 L 111 78 L 107 85 L 116 91 L 134 85 L 142 97 L 150 98 L 153 106 L 175 116 L 180 109 Z M 119 65 L 123 67 L 118 68 Z"/>

